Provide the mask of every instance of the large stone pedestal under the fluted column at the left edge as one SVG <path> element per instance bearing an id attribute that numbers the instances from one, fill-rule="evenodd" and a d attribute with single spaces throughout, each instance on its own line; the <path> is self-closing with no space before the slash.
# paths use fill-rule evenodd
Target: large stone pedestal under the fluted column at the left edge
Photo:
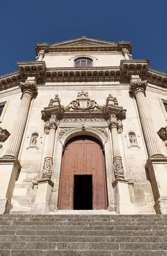
<path id="1" fill-rule="evenodd" d="M 0 213 L 10 213 L 11 198 L 21 166 L 16 158 L 0 158 Z"/>

